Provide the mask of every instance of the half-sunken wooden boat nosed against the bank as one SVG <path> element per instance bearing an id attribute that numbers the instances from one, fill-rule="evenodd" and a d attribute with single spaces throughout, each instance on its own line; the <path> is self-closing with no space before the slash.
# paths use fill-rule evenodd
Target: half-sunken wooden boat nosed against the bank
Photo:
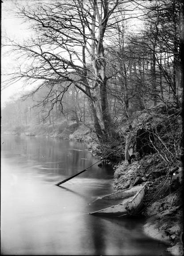
<path id="1" fill-rule="evenodd" d="M 114 201 L 114 204 L 116 203 L 116 200 L 121 201 L 119 204 L 98 210 L 96 212 L 90 212 L 90 214 L 119 217 L 136 215 L 142 206 L 147 183 L 148 182 L 145 182 L 135 187 L 127 188 L 118 192 L 114 192 L 110 195 L 102 196 L 102 199 L 112 199 L 111 201 Z"/>

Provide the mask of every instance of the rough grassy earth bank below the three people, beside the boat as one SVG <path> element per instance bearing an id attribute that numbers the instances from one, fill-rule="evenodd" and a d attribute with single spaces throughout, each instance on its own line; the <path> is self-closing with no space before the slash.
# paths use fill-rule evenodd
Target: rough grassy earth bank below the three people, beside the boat
<path id="1" fill-rule="evenodd" d="M 114 168 L 114 188 L 121 190 L 148 181 L 142 215 L 148 236 L 168 244 L 174 256 L 183 255 L 182 164 L 176 172 L 167 170 L 157 154 L 145 156 L 128 165 L 125 161 Z M 174 174 L 174 175 L 173 175 Z"/>

